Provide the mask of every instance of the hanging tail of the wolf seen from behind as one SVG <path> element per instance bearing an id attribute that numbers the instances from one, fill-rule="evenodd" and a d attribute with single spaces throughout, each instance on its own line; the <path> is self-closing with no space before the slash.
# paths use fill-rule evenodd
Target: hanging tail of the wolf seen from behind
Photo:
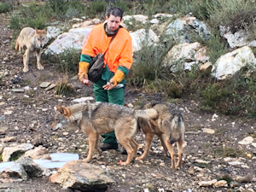
<path id="1" fill-rule="evenodd" d="M 170 143 L 176 143 L 178 140 L 185 139 L 185 125 L 183 115 L 181 113 L 173 114 L 171 121 L 172 133 L 170 135 Z"/>

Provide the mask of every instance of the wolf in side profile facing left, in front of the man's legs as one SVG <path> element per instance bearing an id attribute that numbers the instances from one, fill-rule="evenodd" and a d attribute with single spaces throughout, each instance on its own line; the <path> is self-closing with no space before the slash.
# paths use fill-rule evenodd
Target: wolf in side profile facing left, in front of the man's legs
<path id="1" fill-rule="evenodd" d="M 117 140 L 127 151 L 126 161 L 120 163 L 123 166 L 137 156 L 138 144 L 134 140 L 137 118 L 154 120 L 158 116 L 153 108 L 135 110 L 108 102 L 79 103 L 67 108 L 56 105 L 55 111 L 51 123 L 53 131 L 62 125 L 77 122 L 79 128 L 88 136 L 89 151 L 85 162 L 91 159 L 94 149 L 101 154 L 102 150 L 98 146 L 100 134 L 114 131 Z"/>

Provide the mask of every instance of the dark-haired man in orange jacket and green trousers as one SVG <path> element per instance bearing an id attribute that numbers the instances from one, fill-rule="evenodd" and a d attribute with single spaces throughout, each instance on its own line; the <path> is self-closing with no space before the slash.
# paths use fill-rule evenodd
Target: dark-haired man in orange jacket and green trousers
<path id="1" fill-rule="evenodd" d="M 129 32 L 120 26 L 123 13 L 118 7 L 109 9 L 106 22 L 95 26 L 84 42 L 79 62 L 79 80 L 84 84 L 88 84 L 87 73 L 91 59 L 107 49 L 102 78 L 94 84 L 96 102 L 125 104 L 123 85 L 132 65 L 132 40 Z M 102 134 L 102 137 L 102 151 L 118 148 L 114 132 Z M 122 154 L 125 154 L 125 150 Z"/>

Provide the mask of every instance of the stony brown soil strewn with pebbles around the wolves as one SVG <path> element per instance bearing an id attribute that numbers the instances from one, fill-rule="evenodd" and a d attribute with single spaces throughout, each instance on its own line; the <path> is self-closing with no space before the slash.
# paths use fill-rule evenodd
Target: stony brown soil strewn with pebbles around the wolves
<path id="1" fill-rule="evenodd" d="M 74 127 L 51 131 L 46 121 L 53 117 L 56 104 L 68 106 L 75 98 L 93 96 L 92 84 L 86 86 L 80 84 L 78 79 L 68 79 L 68 83 L 75 90 L 73 96 L 57 96 L 55 90 L 42 89 L 39 86 L 42 82 L 58 84 L 65 75 L 56 71 L 55 63 L 44 62 L 44 70 L 39 71 L 34 55 L 31 55 L 29 72 L 23 73 L 22 55 L 12 48 L 15 39 L 7 27 L 8 20 L 4 20 L 3 15 L 0 15 L 0 18 L 0 73 L 7 73 L 0 85 L 0 117 L 4 117 L 0 119 L 0 127 L 8 127 L 0 138 L 15 137 L 16 143 L 42 145 L 49 153 L 77 153 L 80 159 L 84 159 L 88 149 L 84 133 Z M 13 91 L 28 87 L 29 90 L 25 92 Z M 131 86 L 125 88 L 125 102 L 134 106 L 137 103 L 160 99 L 161 94 L 147 94 L 144 90 L 137 90 Z M 119 151 L 104 152 L 102 156 L 95 154 L 90 163 L 105 166 L 109 176 L 115 181 L 107 191 L 255 190 L 256 150 L 252 145 L 238 143 L 244 137 L 255 133 L 255 120 L 222 114 L 212 119 L 213 113 L 201 112 L 199 102 L 195 100 L 179 99 L 177 106 L 183 110 L 186 125 L 182 167 L 177 170 L 170 168 L 171 159 L 163 153 L 157 137 L 154 137 L 148 157 L 142 162 L 132 161 L 129 166 L 119 166 L 119 160 L 126 158 L 126 155 L 120 154 Z M 215 132 L 205 133 L 202 131 L 203 128 L 210 128 Z M 143 134 L 139 131 L 135 139 L 137 143 L 144 143 Z M 142 153 L 143 148 L 139 148 L 138 154 Z M 241 164 L 230 165 L 230 161 L 224 159 L 227 156 L 233 158 L 231 162 L 238 161 Z M 199 160 L 206 162 L 201 163 Z M 235 182 L 236 187 L 229 183 L 227 187 L 218 189 L 212 186 L 199 187 L 198 184 L 202 180 L 221 178 L 231 178 L 234 181 L 238 176 L 248 176 L 248 179 L 245 183 Z M 58 183 L 50 183 L 48 177 L 44 176 L 13 183 L 0 181 L 0 191 L 74 190 L 62 189 Z"/>

